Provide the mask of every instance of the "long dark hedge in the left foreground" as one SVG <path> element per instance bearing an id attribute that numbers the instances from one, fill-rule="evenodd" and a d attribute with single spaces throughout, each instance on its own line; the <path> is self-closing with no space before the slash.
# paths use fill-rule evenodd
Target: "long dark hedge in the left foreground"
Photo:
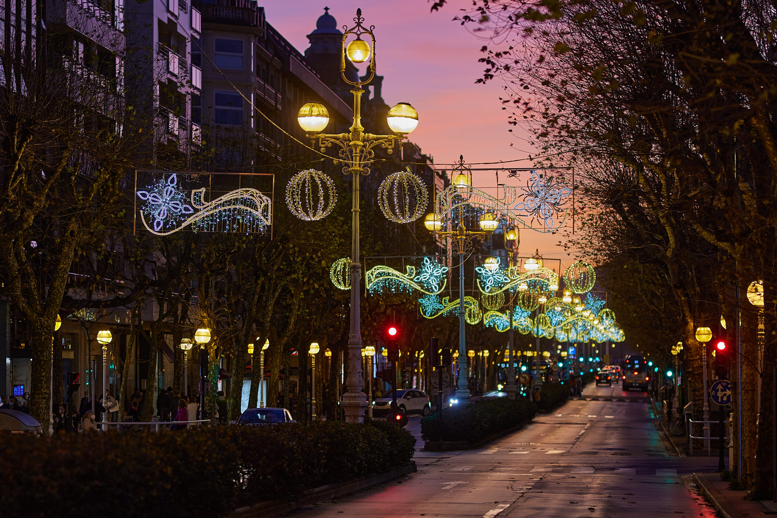
<path id="1" fill-rule="evenodd" d="M 223 516 L 391 471 L 415 438 L 393 423 L 3 436 L 5 516 Z"/>

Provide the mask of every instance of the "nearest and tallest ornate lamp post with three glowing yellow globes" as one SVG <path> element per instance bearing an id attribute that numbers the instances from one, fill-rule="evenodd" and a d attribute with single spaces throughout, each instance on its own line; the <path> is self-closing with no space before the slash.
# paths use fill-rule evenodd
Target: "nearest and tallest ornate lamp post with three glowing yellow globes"
<path id="1" fill-rule="evenodd" d="M 323 153 L 326 148 L 339 146 L 340 162 L 343 162 L 343 172 L 352 178 L 353 205 L 352 231 L 351 231 L 351 262 L 350 262 L 350 332 L 348 337 L 348 377 L 346 380 L 347 392 L 343 395 L 343 411 L 347 422 L 361 422 L 364 419 L 364 405 L 366 400 L 361 389 L 364 387 L 364 376 L 361 372 L 361 306 L 360 284 L 361 267 L 359 264 L 359 181 L 361 176 L 370 174 L 370 165 L 375 159 L 376 147 L 384 148 L 392 153 L 397 144 L 416 129 L 418 125 L 418 113 L 408 103 L 399 103 L 389 110 L 386 117 L 393 135 L 374 135 L 364 133 L 361 125 L 361 95 L 364 93 L 362 85 L 367 85 L 375 78 L 375 35 L 374 29 L 362 26 L 364 18 L 361 9 L 357 9 L 354 25 L 343 33 L 340 46 L 340 75 L 343 81 L 353 85 L 350 92 L 354 94 L 354 123 L 347 133 L 323 134 L 320 131 L 329 123 L 329 113 L 326 107 L 319 103 L 307 103 L 298 113 L 299 125 L 307 132 L 306 136 L 318 145 Z M 362 40 L 367 36 L 372 42 L 372 48 L 368 41 Z M 356 39 L 348 43 L 349 36 Z M 369 61 L 368 75 L 352 82 L 346 75 L 346 58 L 353 63 Z"/>

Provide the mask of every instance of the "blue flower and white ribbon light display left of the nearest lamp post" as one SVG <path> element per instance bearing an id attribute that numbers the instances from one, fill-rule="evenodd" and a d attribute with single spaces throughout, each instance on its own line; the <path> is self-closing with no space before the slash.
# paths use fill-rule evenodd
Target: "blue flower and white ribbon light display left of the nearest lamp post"
<path id="1" fill-rule="evenodd" d="M 178 189 L 177 175 L 171 174 L 137 195 L 147 202 L 140 210 L 141 222 L 155 235 L 170 235 L 190 225 L 193 231 L 263 232 L 272 223 L 273 202 L 256 189 L 235 189 L 206 202 L 203 187 L 191 192 L 189 204 Z"/>

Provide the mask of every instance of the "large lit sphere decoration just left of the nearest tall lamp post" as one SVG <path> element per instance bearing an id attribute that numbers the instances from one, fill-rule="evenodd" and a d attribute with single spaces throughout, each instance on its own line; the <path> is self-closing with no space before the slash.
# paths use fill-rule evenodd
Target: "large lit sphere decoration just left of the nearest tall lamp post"
<path id="1" fill-rule="evenodd" d="M 286 186 L 286 204 L 291 214 L 305 221 L 329 215 L 337 203 L 333 179 L 315 169 L 305 169 L 291 177 Z"/>

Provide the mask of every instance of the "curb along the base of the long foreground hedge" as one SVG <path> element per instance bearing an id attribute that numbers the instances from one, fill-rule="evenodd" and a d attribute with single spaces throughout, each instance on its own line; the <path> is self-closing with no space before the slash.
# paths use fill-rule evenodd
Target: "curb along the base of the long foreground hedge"
<path id="1" fill-rule="evenodd" d="M 344 482 L 343 484 L 328 484 L 315 488 L 312 494 L 303 496 L 294 502 L 281 502 L 280 500 L 270 500 L 269 502 L 260 502 L 255 506 L 241 507 L 235 509 L 228 516 L 229 518 L 268 518 L 269 516 L 278 516 L 279 514 L 291 513 L 296 509 L 309 506 L 322 500 L 328 500 L 336 496 L 364 489 L 370 485 L 380 484 L 389 481 L 392 478 L 401 477 L 408 473 L 416 471 L 416 461 L 410 461 L 409 464 L 397 468 L 394 471 L 383 473 L 382 475 L 373 475 L 359 480 Z"/>

